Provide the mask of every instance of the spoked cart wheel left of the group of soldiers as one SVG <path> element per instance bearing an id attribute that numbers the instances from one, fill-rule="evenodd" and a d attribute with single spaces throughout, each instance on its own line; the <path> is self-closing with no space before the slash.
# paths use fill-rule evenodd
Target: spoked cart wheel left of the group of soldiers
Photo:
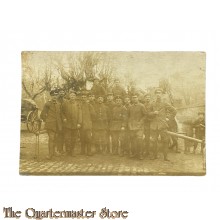
<path id="1" fill-rule="evenodd" d="M 27 115 L 27 129 L 31 133 L 40 131 L 41 121 L 38 116 L 38 109 L 35 109 Z"/>

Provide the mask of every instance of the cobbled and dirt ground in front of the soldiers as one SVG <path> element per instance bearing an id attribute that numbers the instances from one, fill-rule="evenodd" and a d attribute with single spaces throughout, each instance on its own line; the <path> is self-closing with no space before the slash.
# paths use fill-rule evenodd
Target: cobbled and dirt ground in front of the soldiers
<path id="1" fill-rule="evenodd" d="M 36 136 L 21 132 L 20 174 L 22 175 L 205 175 L 204 157 L 197 149 L 196 154 L 184 154 L 183 141 L 179 140 L 180 153 L 169 151 L 169 162 L 163 160 L 159 152 L 157 160 L 131 159 L 113 155 L 80 155 L 76 147 L 76 157 L 63 155 L 46 159 L 48 155 L 47 134 L 40 135 L 39 156 L 37 158 Z"/>

